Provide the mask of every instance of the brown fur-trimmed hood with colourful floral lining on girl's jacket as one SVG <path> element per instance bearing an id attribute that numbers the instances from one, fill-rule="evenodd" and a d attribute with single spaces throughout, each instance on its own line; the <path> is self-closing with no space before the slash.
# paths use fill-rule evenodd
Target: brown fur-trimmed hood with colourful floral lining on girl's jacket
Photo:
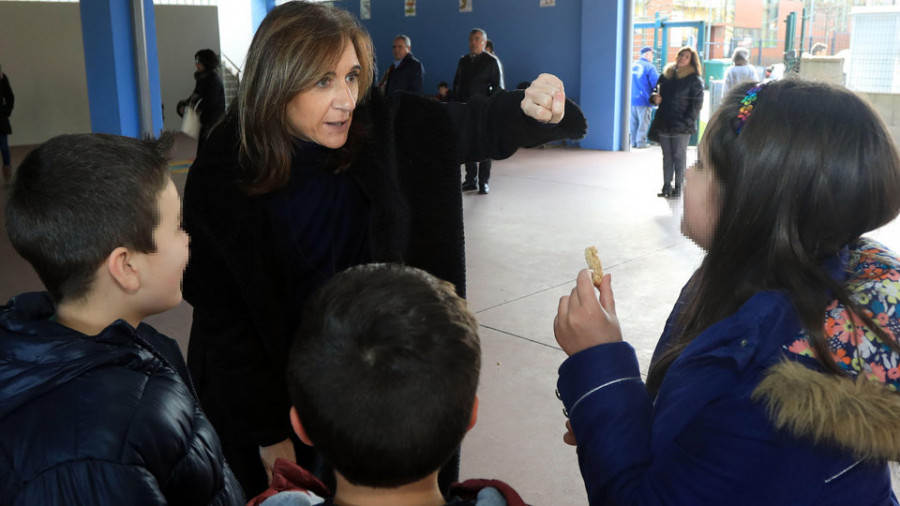
<path id="1" fill-rule="evenodd" d="M 900 258 L 860 239 L 849 247 L 847 266 L 854 302 L 889 336 L 900 335 Z M 900 460 L 900 355 L 870 329 L 854 327 L 836 302 L 827 308 L 825 330 L 843 377 L 803 364 L 815 363 L 802 333 L 785 346 L 788 360 L 767 371 L 753 399 L 765 403 L 778 429 L 796 437 L 837 445 L 861 460 Z"/>

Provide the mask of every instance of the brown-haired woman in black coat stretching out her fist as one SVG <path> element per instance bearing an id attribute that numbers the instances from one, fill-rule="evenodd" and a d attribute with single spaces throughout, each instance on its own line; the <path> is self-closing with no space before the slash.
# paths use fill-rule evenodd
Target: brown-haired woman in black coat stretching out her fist
<path id="1" fill-rule="evenodd" d="M 464 295 L 459 164 L 586 130 L 551 75 L 468 104 L 384 97 L 370 92 L 373 75 L 372 41 L 351 14 L 276 7 L 188 174 L 188 365 L 248 497 L 275 458 L 308 458 L 289 437 L 284 377 L 310 293 L 350 266 L 391 261 Z M 445 470 L 446 484 L 458 469 Z"/>

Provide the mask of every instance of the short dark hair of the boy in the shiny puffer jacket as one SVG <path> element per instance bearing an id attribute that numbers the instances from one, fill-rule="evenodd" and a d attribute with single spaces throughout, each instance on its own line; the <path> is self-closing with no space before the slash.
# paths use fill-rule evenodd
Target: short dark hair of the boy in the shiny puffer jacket
<path id="1" fill-rule="evenodd" d="M 29 153 L 6 204 L 13 247 L 57 303 L 83 297 L 110 253 L 156 250 L 170 135 L 60 135 Z"/>

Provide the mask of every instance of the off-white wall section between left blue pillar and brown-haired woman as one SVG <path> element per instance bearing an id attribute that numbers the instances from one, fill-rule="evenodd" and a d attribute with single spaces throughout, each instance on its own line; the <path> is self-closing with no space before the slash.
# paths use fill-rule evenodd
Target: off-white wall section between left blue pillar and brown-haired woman
<path id="1" fill-rule="evenodd" d="M 219 25 L 215 6 L 157 5 L 156 47 L 159 87 L 162 93 L 163 128 L 178 130 L 178 101 L 194 89 L 194 53 L 212 49 L 219 53 Z"/>

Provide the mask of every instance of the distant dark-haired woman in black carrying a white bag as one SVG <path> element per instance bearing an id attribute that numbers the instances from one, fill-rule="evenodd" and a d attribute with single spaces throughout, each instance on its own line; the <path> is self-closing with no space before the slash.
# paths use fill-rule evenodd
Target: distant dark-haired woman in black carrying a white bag
<path id="1" fill-rule="evenodd" d="M 219 56 L 212 49 L 201 49 L 194 55 L 194 91 L 191 96 L 178 102 L 178 115 L 184 116 L 185 107 L 197 107 L 200 114 L 200 136 L 197 138 L 197 153 L 204 140 L 225 115 L 225 86 L 219 76 Z"/>

